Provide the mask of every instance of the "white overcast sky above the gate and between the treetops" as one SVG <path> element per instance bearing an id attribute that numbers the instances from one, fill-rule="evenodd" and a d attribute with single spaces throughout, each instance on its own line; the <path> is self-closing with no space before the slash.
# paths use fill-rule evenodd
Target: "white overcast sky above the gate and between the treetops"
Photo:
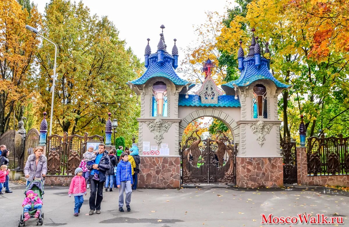
<path id="1" fill-rule="evenodd" d="M 46 3 L 50 0 L 33 0 L 40 13 L 44 13 Z M 193 0 L 82 0 L 89 7 L 91 14 L 99 17 L 108 16 L 120 32 L 120 38 L 127 42 L 133 52 L 144 61 L 144 49 L 147 38 L 150 38 L 151 52 L 155 53 L 161 33 L 160 25 L 165 25 L 164 37 L 169 52 L 173 46 L 173 39 L 177 39 L 179 60 L 183 59 L 183 50 L 196 40 L 193 26 L 205 23 L 205 11 L 217 11 L 224 14 L 226 0 L 193 1 Z M 180 62 L 179 61 L 179 62 Z"/>

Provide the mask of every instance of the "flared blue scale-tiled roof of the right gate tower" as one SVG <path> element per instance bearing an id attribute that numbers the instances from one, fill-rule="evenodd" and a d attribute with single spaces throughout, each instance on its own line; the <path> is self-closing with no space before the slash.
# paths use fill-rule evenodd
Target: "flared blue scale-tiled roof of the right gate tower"
<path id="1" fill-rule="evenodd" d="M 254 57 L 246 57 L 244 60 L 244 69 L 241 72 L 241 76 L 237 80 L 233 80 L 228 82 L 227 84 L 222 84 L 221 87 L 224 86 L 233 88 L 233 84 L 237 86 L 248 86 L 256 80 L 268 79 L 274 82 L 276 87 L 279 88 L 289 88 L 291 85 L 283 84 L 279 80 L 275 79 L 272 73 L 269 72 L 268 69 L 268 60 L 266 58 L 261 58 L 261 65 L 257 68 L 254 65 Z"/>

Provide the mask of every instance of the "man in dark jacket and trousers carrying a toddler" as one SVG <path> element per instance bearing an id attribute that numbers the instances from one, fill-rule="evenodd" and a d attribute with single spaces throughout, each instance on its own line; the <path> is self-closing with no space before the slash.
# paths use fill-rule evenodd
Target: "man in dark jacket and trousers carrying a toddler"
<path id="1" fill-rule="evenodd" d="M 100 143 L 98 145 L 98 154 L 96 156 L 95 162 L 92 165 L 87 165 L 87 169 L 90 170 L 90 212 L 89 215 L 92 215 L 96 210 L 96 214 L 101 213 L 101 203 L 103 200 L 103 184 L 105 182 L 106 171 L 110 168 L 110 159 L 105 154 L 105 144 Z M 99 181 L 93 179 L 95 172 L 98 171 Z M 97 196 L 96 196 L 97 194 Z"/>

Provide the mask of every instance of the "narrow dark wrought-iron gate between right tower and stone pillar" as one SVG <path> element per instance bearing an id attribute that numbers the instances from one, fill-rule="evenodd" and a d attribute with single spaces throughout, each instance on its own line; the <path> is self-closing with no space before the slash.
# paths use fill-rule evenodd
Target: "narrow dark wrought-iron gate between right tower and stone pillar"
<path id="1" fill-rule="evenodd" d="M 289 137 L 285 137 L 280 142 L 280 147 L 280 154 L 283 157 L 283 183 L 297 183 L 296 141 Z"/>

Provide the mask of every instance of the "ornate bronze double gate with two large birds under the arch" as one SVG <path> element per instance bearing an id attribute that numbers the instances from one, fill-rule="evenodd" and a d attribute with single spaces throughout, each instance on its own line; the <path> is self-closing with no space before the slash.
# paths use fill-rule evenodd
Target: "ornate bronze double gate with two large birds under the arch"
<path id="1" fill-rule="evenodd" d="M 221 131 L 215 140 L 202 141 L 197 132 L 182 147 L 182 183 L 235 184 L 237 146 Z"/>

